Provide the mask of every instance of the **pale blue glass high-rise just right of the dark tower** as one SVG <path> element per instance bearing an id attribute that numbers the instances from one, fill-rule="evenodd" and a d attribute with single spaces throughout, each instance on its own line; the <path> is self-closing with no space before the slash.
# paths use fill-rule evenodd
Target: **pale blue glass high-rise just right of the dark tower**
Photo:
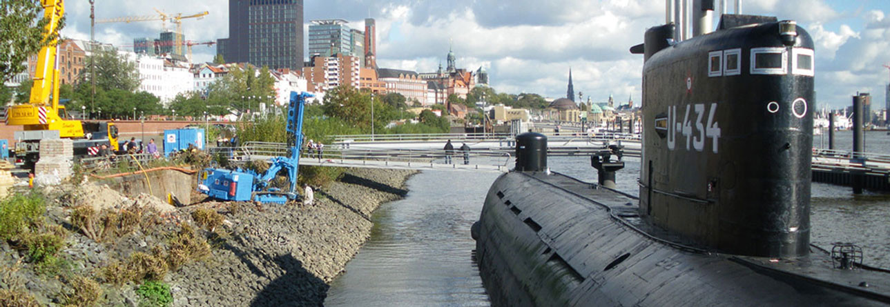
<path id="1" fill-rule="evenodd" d="M 312 20 L 309 26 L 309 56 L 343 54 L 365 61 L 365 33 L 349 28 L 346 20 Z"/>

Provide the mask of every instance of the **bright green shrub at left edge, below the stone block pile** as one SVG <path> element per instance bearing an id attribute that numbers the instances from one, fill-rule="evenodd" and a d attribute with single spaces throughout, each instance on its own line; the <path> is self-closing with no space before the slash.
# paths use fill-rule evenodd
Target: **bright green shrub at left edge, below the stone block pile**
<path id="1" fill-rule="evenodd" d="M 24 230 L 35 229 L 43 224 L 46 211 L 40 193 L 12 194 L 0 201 L 0 238 L 17 239 Z"/>

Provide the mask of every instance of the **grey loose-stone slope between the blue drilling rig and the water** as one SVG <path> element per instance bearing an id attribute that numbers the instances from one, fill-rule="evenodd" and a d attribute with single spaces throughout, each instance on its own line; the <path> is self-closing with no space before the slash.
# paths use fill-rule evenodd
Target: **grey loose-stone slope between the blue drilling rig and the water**
<path id="1" fill-rule="evenodd" d="M 228 222 L 211 243 L 213 255 L 168 277 L 174 306 L 320 305 L 369 238 L 370 215 L 403 197 L 411 174 L 351 169 L 316 191 L 312 206 L 198 205 L 217 208 Z"/>

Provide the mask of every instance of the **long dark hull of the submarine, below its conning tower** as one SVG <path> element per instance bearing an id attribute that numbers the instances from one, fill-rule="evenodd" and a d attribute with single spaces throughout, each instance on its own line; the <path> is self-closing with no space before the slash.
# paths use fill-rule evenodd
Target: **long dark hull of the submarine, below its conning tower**
<path id="1" fill-rule="evenodd" d="M 855 288 L 886 274 L 713 254 L 643 231 L 638 201 L 562 174 L 512 172 L 491 186 L 474 230 L 476 258 L 498 306 L 885 305 Z M 657 226 L 652 226 L 657 227 Z M 822 255 L 817 257 L 816 255 Z"/>

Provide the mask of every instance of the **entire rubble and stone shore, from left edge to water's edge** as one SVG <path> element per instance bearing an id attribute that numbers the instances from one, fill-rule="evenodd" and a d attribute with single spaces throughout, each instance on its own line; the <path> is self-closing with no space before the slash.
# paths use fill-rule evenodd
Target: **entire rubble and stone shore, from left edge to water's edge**
<path id="1" fill-rule="evenodd" d="M 37 273 L 27 249 L 0 240 L 0 305 L 9 303 L 11 293 L 22 293 L 33 296 L 38 305 L 142 306 L 144 299 L 136 293 L 141 279 L 114 286 L 101 272 L 137 253 L 152 254 L 163 246 L 160 250 L 169 250 L 176 232 L 187 225 L 198 229 L 202 242 L 208 238 L 210 254 L 166 273 L 163 282 L 170 287 L 173 306 L 321 305 L 330 282 L 370 237 L 371 214 L 381 204 L 404 197 L 412 174 L 348 169 L 340 180 L 316 190 L 312 206 L 207 201 L 176 208 L 147 195 L 127 198 L 101 184 L 46 190 L 46 224 L 67 230 L 58 253 L 65 265 L 48 275 Z M 77 204 L 111 212 L 141 207 L 157 214 L 145 215 L 155 221 L 143 224 L 150 227 L 97 242 L 72 225 Z M 223 225 L 215 231 L 195 226 L 192 213 L 201 208 L 223 214 Z M 72 301 L 78 290 L 71 283 L 77 276 L 99 283 L 95 303 Z"/>

